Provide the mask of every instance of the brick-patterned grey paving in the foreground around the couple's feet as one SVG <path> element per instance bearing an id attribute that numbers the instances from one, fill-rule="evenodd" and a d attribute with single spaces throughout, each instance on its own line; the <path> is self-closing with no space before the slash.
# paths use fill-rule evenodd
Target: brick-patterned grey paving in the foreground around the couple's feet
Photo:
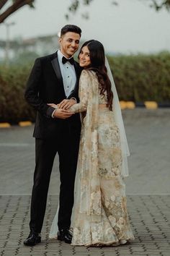
<path id="1" fill-rule="evenodd" d="M 42 229 L 42 243 L 24 247 L 30 218 L 30 196 L 11 195 L 1 197 L 1 256 L 128 256 L 170 255 L 170 222 L 167 195 L 129 195 L 128 208 L 135 242 L 119 247 L 72 247 L 69 244 L 48 239 L 50 224 L 56 210 L 56 196 L 48 197 L 48 205 Z"/>

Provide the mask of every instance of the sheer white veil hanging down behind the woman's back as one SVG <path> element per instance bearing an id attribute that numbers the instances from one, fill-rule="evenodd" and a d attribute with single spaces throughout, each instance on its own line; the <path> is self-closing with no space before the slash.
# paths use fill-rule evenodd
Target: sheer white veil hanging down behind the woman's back
<path id="1" fill-rule="evenodd" d="M 120 102 L 117 95 L 117 90 L 115 87 L 115 82 L 113 80 L 112 72 L 109 67 L 109 62 L 107 61 L 107 57 L 105 57 L 105 66 L 107 67 L 107 74 L 109 77 L 109 80 L 112 84 L 112 93 L 113 93 L 113 101 L 112 101 L 112 109 L 113 113 L 115 115 L 115 121 L 117 124 L 117 127 L 120 130 L 120 143 L 121 143 L 121 150 L 122 150 L 122 171 L 121 174 L 123 177 L 129 175 L 128 171 L 128 159 L 127 157 L 130 155 L 129 147 L 128 147 L 128 141 L 125 134 L 125 127 L 122 120 L 122 111 L 120 108 Z"/>

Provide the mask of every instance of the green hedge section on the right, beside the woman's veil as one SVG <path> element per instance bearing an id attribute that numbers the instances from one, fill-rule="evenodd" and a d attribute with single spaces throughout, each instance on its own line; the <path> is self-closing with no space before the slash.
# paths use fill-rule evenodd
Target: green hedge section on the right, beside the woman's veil
<path id="1" fill-rule="evenodd" d="M 170 53 L 108 58 L 124 101 L 170 101 Z"/>

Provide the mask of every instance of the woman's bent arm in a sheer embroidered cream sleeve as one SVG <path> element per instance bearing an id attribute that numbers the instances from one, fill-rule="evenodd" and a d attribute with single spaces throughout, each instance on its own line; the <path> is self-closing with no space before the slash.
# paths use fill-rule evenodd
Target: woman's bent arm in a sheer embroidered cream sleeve
<path id="1" fill-rule="evenodd" d="M 79 80 L 80 102 L 71 106 L 71 108 L 69 108 L 69 111 L 74 113 L 86 111 L 88 98 L 89 98 L 89 82 L 90 82 L 90 77 L 89 77 L 88 71 L 83 70 L 81 72 L 81 77 Z"/>

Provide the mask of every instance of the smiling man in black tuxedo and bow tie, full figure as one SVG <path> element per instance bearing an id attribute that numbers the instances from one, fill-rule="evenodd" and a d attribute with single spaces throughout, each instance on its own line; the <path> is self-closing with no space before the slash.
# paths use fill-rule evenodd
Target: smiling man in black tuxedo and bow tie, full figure
<path id="1" fill-rule="evenodd" d="M 25 99 L 36 109 L 35 121 L 35 174 L 32 188 L 30 234 L 24 245 L 41 242 L 40 232 L 50 183 L 50 174 L 56 153 L 59 155 L 61 179 L 58 239 L 71 243 L 71 211 L 73 208 L 73 187 L 79 152 L 81 122 L 79 114 L 62 108 L 53 108 L 50 103 L 72 106 L 78 98 L 81 69 L 73 60 L 79 48 L 81 29 L 66 25 L 61 29 L 60 50 L 55 54 L 35 60 L 27 81 Z"/>

